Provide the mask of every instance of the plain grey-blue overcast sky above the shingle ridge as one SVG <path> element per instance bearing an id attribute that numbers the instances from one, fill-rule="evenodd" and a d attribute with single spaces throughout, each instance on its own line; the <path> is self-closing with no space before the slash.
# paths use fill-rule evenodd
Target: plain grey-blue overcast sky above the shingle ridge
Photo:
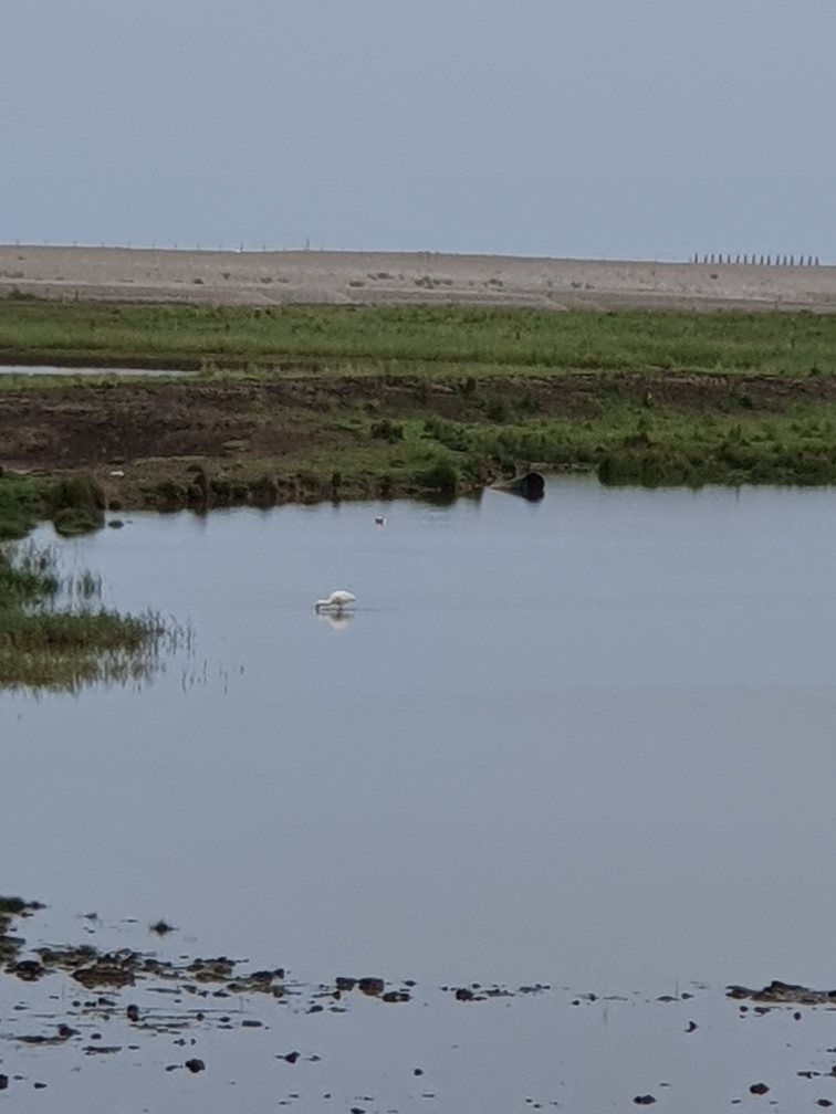
<path id="1" fill-rule="evenodd" d="M 6 0 L 0 241 L 836 261 L 836 0 Z"/>

